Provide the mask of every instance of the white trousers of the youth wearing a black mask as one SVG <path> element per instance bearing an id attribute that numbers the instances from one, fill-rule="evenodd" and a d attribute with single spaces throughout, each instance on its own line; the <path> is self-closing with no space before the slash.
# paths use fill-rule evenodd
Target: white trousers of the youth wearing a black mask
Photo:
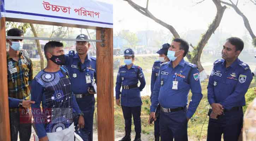
<path id="1" fill-rule="evenodd" d="M 73 141 L 74 140 L 74 123 L 69 128 L 61 131 L 46 133 L 49 141 Z"/>

